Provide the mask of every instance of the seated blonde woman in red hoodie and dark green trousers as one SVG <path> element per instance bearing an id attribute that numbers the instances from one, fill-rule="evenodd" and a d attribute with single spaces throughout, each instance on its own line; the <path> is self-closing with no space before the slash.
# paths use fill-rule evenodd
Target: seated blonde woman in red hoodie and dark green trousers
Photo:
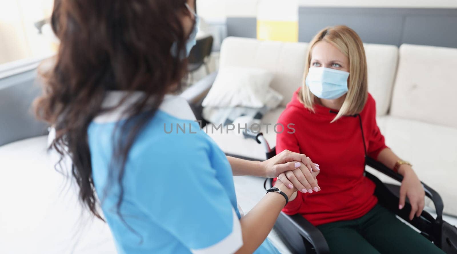
<path id="1" fill-rule="evenodd" d="M 360 37 L 347 26 L 328 27 L 310 42 L 303 87 L 280 116 L 295 133 L 277 135 L 276 151 L 307 154 L 322 169 L 321 191 L 300 187 L 283 209 L 300 213 L 324 234 L 332 253 L 442 253 L 377 204 L 375 184 L 363 175 L 365 155 L 404 176 L 399 209 L 408 197 L 409 219 L 424 208 L 424 189 L 409 163 L 384 143 L 375 101 L 367 89 L 367 61 Z M 278 130 L 279 132 L 281 130 Z M 363 133 L 363 135 L 362 135 Z"/>

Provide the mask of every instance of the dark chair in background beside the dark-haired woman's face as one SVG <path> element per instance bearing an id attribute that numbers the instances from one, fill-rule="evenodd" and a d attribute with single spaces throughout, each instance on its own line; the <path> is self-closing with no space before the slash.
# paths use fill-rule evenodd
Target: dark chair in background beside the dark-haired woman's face
<path id="1" fill-rule="evenodd" d="M 193 83 L 193 72 L 200 69 L 202 65 L 205 65 L 206 74 L 209 74 L 209 66 L 207 59 L 213 51 L 213 36 L 202 37 L 197 40 L 197 43 L 192 48 L 191 53 L 189 54 L 188 61 L 188 71 L 191 75 L 191 83 Z"/>

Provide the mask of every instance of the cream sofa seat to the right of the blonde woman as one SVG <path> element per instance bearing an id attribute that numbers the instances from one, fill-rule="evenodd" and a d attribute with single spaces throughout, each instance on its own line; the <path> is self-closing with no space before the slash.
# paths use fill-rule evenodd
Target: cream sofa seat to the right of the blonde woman
<path id="1" fill-rule="evenodd" d="M 392 116 L 378 117 L 377 124 L 386 145 L 411 162 L 419 179 L 440 194 L 444 212 L 457 215 L 457 129 Z M 398 184 L 385 175 L 376 175 Z"/>

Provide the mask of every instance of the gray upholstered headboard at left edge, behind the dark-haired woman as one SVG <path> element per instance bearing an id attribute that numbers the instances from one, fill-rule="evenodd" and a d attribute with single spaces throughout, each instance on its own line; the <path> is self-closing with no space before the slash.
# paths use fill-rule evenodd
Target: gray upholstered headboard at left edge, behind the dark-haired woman
<path id="1" fill-rule="evenodd" d="M 32 102 L 40 95 L 37 65 L 41 59 L 0 66 L 0 146 L 47 133 L 33 116 Z"/>

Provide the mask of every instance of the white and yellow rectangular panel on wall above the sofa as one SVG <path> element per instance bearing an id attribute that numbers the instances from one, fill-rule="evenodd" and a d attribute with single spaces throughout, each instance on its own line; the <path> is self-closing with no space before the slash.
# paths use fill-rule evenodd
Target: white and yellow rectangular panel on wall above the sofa
<path id="1" fill-rule="evenodd" d="M 260 0 L 257 39 L 298 42 L 298 0 Z"/>

